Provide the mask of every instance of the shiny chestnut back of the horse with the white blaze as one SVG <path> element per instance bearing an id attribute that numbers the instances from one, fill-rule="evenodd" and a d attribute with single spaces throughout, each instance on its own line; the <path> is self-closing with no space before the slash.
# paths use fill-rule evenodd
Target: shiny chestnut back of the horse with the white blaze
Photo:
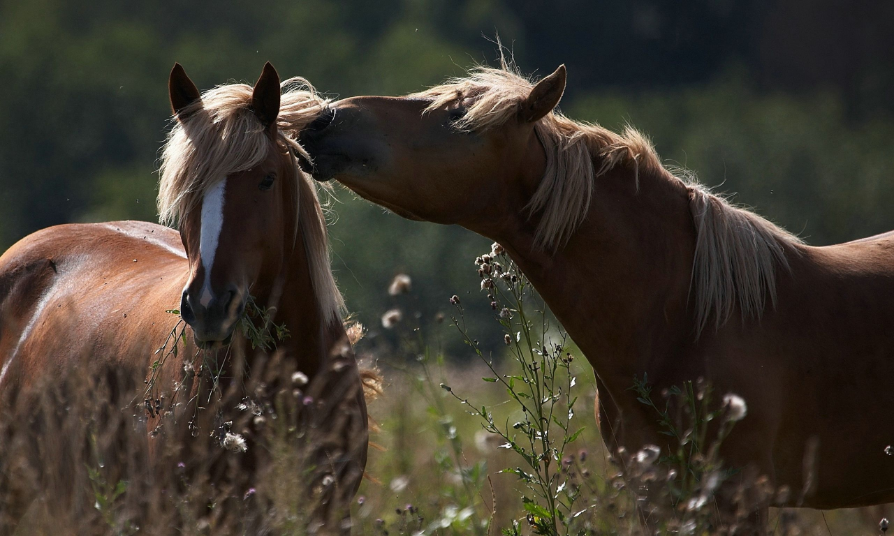
<path id="1" fill-rule="evenodd" d="M 173 323 L 164 310 L 177 304 L 185 257 L 175 230 L 148 222 L 59 225 L 21 239 L 0 256 L 0 388 L 77 355 L 120 359 L 113 338 L 122 351 L 134 341 L 148 349 L 170 329 L 151 327 Z"/>

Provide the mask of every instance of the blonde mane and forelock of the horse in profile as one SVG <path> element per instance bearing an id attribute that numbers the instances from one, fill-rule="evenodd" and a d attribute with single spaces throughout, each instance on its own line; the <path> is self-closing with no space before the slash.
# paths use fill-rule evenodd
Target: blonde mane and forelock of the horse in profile
<path id="1" fill-rule="evenodd" d="M 431 100 L 427 110 L 461 103 L 465 114 L 455 127 L 486 131 L 513 118 L 534 88 L 505 57 L 501 68 L 478 66 L 466 78 L 413 94 Z M 595 181 L 619 165 L 629 166 L 639 188 L 643 173 L 679 180 L 689 192 L 689 210 L 696 225 L 696 251 L 690 292 L 695 293 L 696 338 L 713 319 L 715 329 L 738 307 L 743 318 L 757 318 L 767 297 L 776 304 L 776 269 L 788 269 L 786 251 L 800 240 L 761 216 L 731 205 L 689 173 L 662 166 L 652 143 L 630 126 L 619 133 L 572 121 L 553 111 L 536 122 L 546 152 L 544 177 L 525 210 L 538 214 L 536 246 L 548 251 L 564 247 L 586 219 Z"/>

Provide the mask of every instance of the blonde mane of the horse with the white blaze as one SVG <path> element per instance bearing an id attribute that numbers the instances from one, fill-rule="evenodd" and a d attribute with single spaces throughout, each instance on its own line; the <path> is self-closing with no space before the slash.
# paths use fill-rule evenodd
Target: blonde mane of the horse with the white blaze
<path id="1" fill-rule="evenodd" d="M 309 269 L 317 301 L 325 318 L 340 319 L 342 294 L 330 267 L 325 214 L 314 181 L 299 169 L 296 155 L 308 157 L 298 134 L 326 105 L 324 97 L 301 78 L 283 81 L 277 143 L 291 152 L 298 207 L 296 232 L 307 249 Z M 161 156 L 158 185 L 159 220 L 176 224 L 219 180 L 249 170 L 274 149 L 261 121 L 251 110 L 252 88 L 227 84 L 209 89 L 200 101 L 183 111 L 185 121 L 173 120 Z M 291 178 L 290 178 L 291 179 Z M 303 217 L 302 217 L 303 216 Z"/>

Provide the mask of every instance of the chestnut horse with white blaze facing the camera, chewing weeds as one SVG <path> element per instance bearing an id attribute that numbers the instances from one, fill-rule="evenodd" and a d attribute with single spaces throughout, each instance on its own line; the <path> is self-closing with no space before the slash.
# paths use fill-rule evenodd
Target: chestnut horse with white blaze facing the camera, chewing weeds
<path id="1" fill-rule="evenodd" d="M 277 124 L 316 117 L 323 101 L 302 82 L 287 80 L 281 95 L 279 76 L 267 63 L 254 89 L 232 84 L 200 95 L 174 66 L 169 89 L 177 121 L 164 147 L 159 209 L 163 222 L 179 221 L 179 236 L 147 222 L 72 224 L 38 231 L 6 251 L 0 257 L 0 392 L 9 405 L 47 374 L 62 376 L 80 363 L 91 373 L 114 369 L 131 381 L 127 389 L 137 392 L 138 409 L 147 390 L 150 443 L 171 417 L 181 441 L 214 435 L 219 444 L 212 455 L 236 456 L 234 466 L 250 472 L 264 448 L 250 435 L 236 437 L 240 430 L 221 429 L 220 420 L 238 413 L 235 403 L 222 407 L 222 400 L 256 398 L 248 390 L 249 371 L 283 364 L 290 395 L 293 382 L 309 378 L 299 398 L 311 414 L 303 422 L 325 440 L 317 476 L 294 478 L 316 486 L 322 506 L 315 523 L 333 523 L 333 532 L 342 532 L 350 530 L 343 519 L 366 465 L 367 410 L 315 184 L 299 170 L 297 131 Z M 289 336 L 266 356 L 246 348 L 240 361 L 226 343 L 242 342 L 237 324 L 251 299 Z M 156 349 L 179 321 L 165 311 L 178 304 L 191 335 L 181 338 L 179 352 L 170 352 L 169 340 L 156 371 Z M 209 363 L 223 369 L 209 370 Z M 209 398 L 215 381 L 228 398 Z M 266 387 L 274 391 L 276 384 Z M 223 447 L 237 452 L 224 454 Z M 156 450 L 150 445 L 150 453 Z M 223 463 L 233 466 L 232 459 Z M 286 475 L 267 476 L 273 484 Z M 244 491 L 236 493 L 241 498 Z"/>

